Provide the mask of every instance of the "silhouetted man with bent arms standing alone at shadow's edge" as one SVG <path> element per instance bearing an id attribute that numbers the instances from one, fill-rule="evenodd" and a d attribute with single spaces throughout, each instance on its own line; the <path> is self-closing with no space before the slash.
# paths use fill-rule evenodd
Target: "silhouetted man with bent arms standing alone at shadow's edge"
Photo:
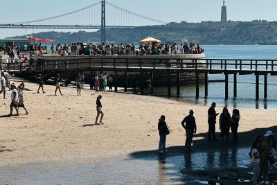
<path id="1" fill-rule="evenodd" d="M 186 130 L 185 149 L 190 150 L 191 143 L 193 142 L 193 134 L 196 134 L 197 130 L 195 117 L 193 116 L 193 110 L 190 110 L 189 115 L 184 118 L 184 120 L 181 122 L 181 125 Z"/>

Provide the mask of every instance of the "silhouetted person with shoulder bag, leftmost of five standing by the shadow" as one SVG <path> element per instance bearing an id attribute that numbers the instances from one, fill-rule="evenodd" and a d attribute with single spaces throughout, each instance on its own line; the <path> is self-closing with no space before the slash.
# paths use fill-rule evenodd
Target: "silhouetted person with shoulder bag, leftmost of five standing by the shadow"
<path id="1" fill-rule="evenodd" d="M 160 135 L 159 152 L 166 152 L 166 134 L 168 132 L 168 125 L 166 125 L 166 116 L 161 116 L 158 123 L 158 130 Z"/>

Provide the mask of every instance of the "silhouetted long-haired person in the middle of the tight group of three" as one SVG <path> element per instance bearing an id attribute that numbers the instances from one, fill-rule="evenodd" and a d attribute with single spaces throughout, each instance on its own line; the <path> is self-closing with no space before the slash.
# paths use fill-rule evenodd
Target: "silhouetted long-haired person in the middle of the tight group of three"
<path id="1" fill-rule="evenodd" d="M 222 142 L 229 142 L 230 122 L 231 115 L 227 107 L 224 107 L 220 114 L 220 141 Z"/>

